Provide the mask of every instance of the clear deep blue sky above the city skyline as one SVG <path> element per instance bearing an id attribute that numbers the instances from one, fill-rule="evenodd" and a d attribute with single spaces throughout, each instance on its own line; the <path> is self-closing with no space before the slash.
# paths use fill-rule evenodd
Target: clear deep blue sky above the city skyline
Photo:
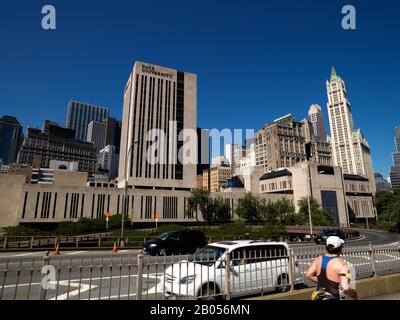
<path id="1" fill-rule="evenodd" d="M 41 8 L 57 30 L 41 28 Z M 357 30 L 341 9 L 357 10 Z M 346 81 L 355 126 L 388 175 L 400 125 L 398 1 L 2 0 L 0 115 L 25 126 L 65 122 L 71 99 L 121 118 L 135 60 L 198 75 L 198 125 L 254 128 L 310 104 L 326 115 L 331 66 Z"/>

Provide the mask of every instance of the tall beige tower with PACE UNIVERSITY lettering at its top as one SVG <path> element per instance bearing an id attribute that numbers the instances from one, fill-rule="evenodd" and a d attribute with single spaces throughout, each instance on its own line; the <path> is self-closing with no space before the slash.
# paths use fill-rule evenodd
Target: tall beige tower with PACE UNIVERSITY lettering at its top
<path id="1" fill-rule="evenodd" d="M 196 108 L 195 74 L 135 63 L 124 91 L 120 186 L 124 185 L 127 173 L 128 184 L 135 188 L 195 187 Z M 185 143 L 190 152 L 181 150 L 182 138 L 188 133 L 183 129 L 190 129 L 193 135 L 191 147 Z M 179 137 L 180 134 L 183 136 Z"/>

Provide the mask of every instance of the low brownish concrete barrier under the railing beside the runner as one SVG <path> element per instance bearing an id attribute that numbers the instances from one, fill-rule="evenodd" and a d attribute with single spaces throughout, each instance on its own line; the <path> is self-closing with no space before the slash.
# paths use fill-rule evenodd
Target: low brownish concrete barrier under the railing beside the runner
<path id="1" fill-rule="evenodd" d="M 400 274 L 357 281 L 357 292 L 361 299 L 400 292 Z M 246 300 L 311 300 L 314 288 L 254 297 Z"/>

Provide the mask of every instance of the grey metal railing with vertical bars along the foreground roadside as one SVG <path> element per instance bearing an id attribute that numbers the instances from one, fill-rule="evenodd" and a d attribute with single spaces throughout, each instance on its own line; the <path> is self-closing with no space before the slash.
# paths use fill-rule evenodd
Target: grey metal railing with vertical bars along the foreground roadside
<path id="1" fill-rule="evenodd" d="M 295 290 L 312 285 L 305 275 L 323 247 L 246 252 L 0 259 L 0 300 L 229 300 Z M 343 258 L 357 279 L 399 273 L 400 243 L 346 246 Z"/>

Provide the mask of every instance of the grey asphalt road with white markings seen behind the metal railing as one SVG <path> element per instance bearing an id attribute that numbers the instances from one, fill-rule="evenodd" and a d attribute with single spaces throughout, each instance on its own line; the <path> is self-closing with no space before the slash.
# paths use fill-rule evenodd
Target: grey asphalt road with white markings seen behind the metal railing
<path id="1" fill-rule="evenodd" d="M 364 246 L 370 242 L 383 246 L 400 241 L 397 234 L 363 231 L 362 239 L 349 241 L 348 247 Z M 313 260 L 314 255 L 323 252 L 322 245 L 304 244 L 292 246 L 295 255 L 299 256 L 299 272 L 302 277 Z M 139 250 L 120 250 L 113 254 L 107 251 L 65 251 L 60 256 L 50 254 L 48 264 L 57 272 L 54 279 L 56 289 L 49 288 L 45 299 L 136 299 L 137 290 L 137 255 Z M 0 299 L 40 299 L 43 256 L 45 252 L 0 253 Z M 304 255 L 303 255 L 304 254 Z M 182 257 L 183 258 L 183 257 Z M 371 258 L 367 251 L 346 257 L 356 268 L 358 276 L 368 277 L 372 274 Z M 377 253 L 377 266 L 389 270 L 393 262 L 399 259 L 387 253 Z M 143 299 L 162 299 L 163 283 L 161 275 L 165 268 L 179 257 L 144 257 Z M 157 262 L 157 263 L 156 263 Z M 397 263 L 397 265 L 399 265 Z M 7 271 L 5 271 L 7 270 Z M 400 272 L 400 269 L 397 270 Z M 301 281 L 301 285 L 309 285 Z M 2 289 L 3 288 L 3 289 Z"/>

